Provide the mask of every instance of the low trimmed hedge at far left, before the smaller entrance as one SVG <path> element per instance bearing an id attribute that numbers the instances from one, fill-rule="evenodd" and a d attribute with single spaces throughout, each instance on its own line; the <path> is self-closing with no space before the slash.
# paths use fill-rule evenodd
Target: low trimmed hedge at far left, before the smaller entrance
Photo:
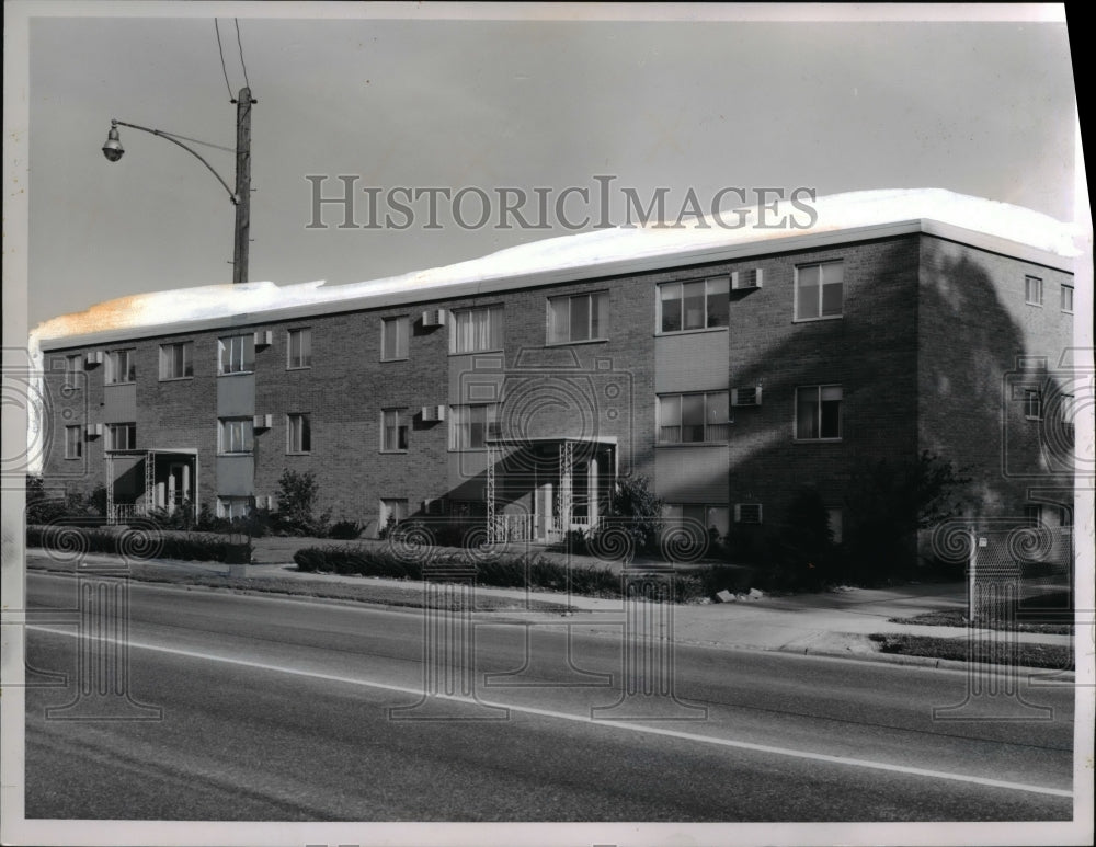
<path id="1" fill-rule="evenodd" d="M 28 526 L 26 546 L 39 547 L 67 561 L 81 553 L 113 553 L 126 559 L 183 559 L 204 562 L 250 562 L 248 543 L 230 543 L 224 536 L 205 533 L 179 535 L 156 529 L 87 529 L 48 525 Z"/>

